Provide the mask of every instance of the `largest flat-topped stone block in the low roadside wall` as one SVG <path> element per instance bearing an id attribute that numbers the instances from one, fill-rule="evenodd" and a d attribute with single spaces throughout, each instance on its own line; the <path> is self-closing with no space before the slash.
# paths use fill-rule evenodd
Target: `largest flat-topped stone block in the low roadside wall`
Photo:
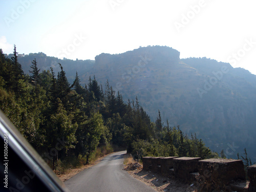
<path id="1" fill-rule="evenodd" d="M 245 180 L 242 160 L 204 159 L 199 161 L 200 182 L 212 187 L 225 187 L 230 182 Z"/>

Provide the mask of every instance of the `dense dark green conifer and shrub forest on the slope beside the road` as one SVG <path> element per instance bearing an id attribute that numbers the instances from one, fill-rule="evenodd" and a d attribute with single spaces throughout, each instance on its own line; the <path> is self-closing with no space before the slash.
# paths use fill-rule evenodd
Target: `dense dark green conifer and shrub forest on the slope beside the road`
<path id="1" fill-rule="evenodd" d="M 136 158 L 143 156 L 218 157 L 196 134 L 188 137 L 177 127 L 164 125 L 158 111 L 152 122 L 138 99 L 125 103 L 106 81 L 95 77 L 84 85 L 78 73 L 72 84 L 59 63 L 59 72 L 41 71 L 31 62 L 25 74 L 13 57 L 0 49 L 0 109 L 48 164 L 89 163 L 96 154 L 117 146 Z"/>

